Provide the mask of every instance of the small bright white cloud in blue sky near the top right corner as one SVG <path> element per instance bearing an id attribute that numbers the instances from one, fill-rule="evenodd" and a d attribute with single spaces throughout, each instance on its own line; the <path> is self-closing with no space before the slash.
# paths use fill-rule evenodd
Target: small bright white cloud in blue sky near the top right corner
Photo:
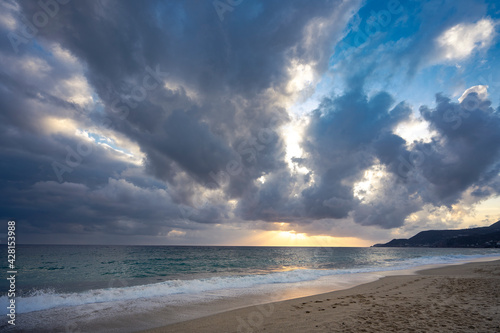
<path id="1" fill-rule="evenodd" d="M 487 49 L 495 37 L 495 25 L 491 19 L 482 19 L 451 27 L 436 39 L 438 56 L 435 61 L 464 60 L 476 49 Z"/>

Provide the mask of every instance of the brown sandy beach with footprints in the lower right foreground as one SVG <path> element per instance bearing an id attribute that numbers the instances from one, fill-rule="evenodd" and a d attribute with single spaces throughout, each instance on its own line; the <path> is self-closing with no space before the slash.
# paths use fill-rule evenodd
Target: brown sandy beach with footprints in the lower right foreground
<path id="1" fill-rule="evenodd" d="M 500 260 L 384 277 L 143 332 L 500 332 Z"/>

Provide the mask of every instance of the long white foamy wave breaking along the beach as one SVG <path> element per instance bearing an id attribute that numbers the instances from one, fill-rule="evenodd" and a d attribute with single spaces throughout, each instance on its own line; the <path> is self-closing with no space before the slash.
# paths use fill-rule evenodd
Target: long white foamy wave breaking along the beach
<path id="1" fill-rule="evenodd" d="M 17 313 L 71 307 L 92 303 L 118 302 L 141 298 L 155 298 L 180 294 L 200 294 L 203 292 L 231 289 L 247 289 L 255 286 L 313 281 L 321 277 L 357 273 L 376 273 L 381 271 L 409 269 L 429 264 L 450 264 L 470 261 L 477 258 L 493 257 L 488 255 L 451 255 L 429 256 L 400 261 L 378 263 L 352 269 L 295 269 L 283 272 L 243 276 L 211 277 L 193 280 L 169 280 L 146 285 L 126 286 L 125 281 L 117 284 L 119 288 L 88 290 L 79 293 L 57 293 L 54 290 L 34 290 L 27 295 L 16 297 Z M 0 297 L 0 306 L 8 306 L 7 296 Z"/>

